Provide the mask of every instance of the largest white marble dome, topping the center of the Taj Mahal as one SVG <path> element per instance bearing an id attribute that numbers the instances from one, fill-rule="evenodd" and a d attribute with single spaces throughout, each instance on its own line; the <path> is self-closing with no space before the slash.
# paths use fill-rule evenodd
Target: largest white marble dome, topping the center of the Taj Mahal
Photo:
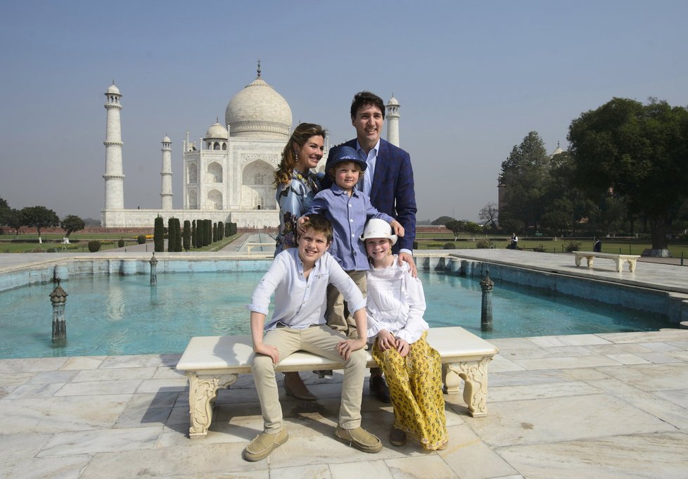
<path id="1" fill-rule="evenodd" d="M 286 140 L 291 134 L 291 108 L 260 74 L 227 105 L 229 136 Z"/>

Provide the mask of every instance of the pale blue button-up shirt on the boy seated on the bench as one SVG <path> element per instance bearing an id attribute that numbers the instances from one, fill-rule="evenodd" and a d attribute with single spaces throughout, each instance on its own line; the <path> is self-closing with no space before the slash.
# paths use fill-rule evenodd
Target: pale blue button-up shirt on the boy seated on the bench
<path id="1" fill-rule="evenodd" d="M 296 329 L 325 324 L 329 283 L 344 295 L 352 314 L 365 307 L 366 301 L 356 283 L 329 253 L 326 252 L 315 262 L 306 279 L 298 248 L 289 248 L 276 255 L 253 291 L 250 305 L 246 307 L 267 317 L 270 298 L 274 293 L 274 312 L 272 319 L 266 321 L 266 331 L 276 328 L 277 324 Z"/>

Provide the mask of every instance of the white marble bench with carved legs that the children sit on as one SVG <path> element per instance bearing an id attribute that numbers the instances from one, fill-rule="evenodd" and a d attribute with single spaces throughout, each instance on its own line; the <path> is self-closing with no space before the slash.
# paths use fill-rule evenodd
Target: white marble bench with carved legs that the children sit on
<path id="1" fill-rule="evenodd" d="M 459 326 L 431 328 L 430 343 L 442 357 L 442 381 L 445 392 L 457 393 L 464 380 L 464 401 L 471 416 L 488 414 L 488 362 L 499 350 L 482 338 Z M 376 366 L 368 356 L 368 367 Z M 238 374 L 250 374 L 253 347 L 250 336 L 198 336 L 191 338 L 177 369 L 189 378 L 190 438 L 204 438 L 212 421 L 212 406 L 219 388 L 228 388 Z M 318 371 L 343 369 L 339 362 L 295 352 L 283 359 L 277 371 Z"/>

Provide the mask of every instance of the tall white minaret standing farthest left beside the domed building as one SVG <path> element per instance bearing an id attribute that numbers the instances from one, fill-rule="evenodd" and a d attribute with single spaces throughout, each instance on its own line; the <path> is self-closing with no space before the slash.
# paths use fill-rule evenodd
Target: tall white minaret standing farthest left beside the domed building
<path id="1" fill-rule="evenodd" d="M 122 210 L 125 207 L 124 179 L 122 174 L 122 129 L 120 127 L 120 89 L 113 84 L 105 96 L 105 109 L 108 110 L 105 141 L 105 209 Z"/>

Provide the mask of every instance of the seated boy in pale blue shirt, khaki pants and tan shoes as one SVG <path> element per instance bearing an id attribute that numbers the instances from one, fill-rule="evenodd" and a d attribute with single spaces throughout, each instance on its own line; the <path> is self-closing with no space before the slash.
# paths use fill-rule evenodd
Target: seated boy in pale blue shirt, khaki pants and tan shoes
<path id="1" fill-rule="evenodd" d="M 253 379 L 260 400 L 264 429 L 243 451 L 243 459 L 260 461 L 289 438 L 275 379 L 281 359 L 302 350 L 344 364 L 342 400 L 335 437 L 364 452 L 379 452 L 382 443 L 361 428 L 361 392 L 366 355 L 365 300 L 355 283 L 326 252 L 332 243 L 332 226 L 321 215 L 302 224 L 298 248 L 276 255 L 253 292 L 250 309 L 253 338 Z M 325 323 L 325 292 L 329 283 L 342 293 L 354 312 L 358 338 L 348 339 Z M 275 295 L 272 319 L 265 324 L 270 298 Z"/>

